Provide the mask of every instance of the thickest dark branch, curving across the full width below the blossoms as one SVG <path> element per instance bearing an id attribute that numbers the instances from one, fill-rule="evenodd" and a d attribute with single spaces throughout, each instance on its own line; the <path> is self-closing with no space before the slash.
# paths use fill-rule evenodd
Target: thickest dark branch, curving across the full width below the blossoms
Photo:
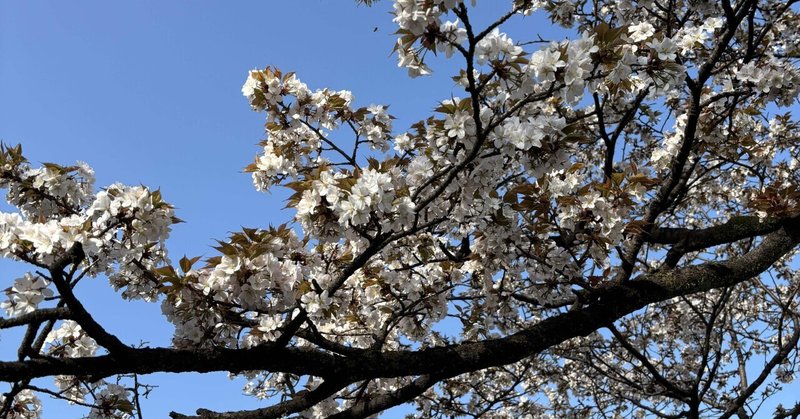
<path id="1" fill-rule="evenodd" d="M 274 344 L 250 349 L 131 349 L 123 359 L 32 359 L 0 363 L 0 380 L 52 375 L 94 378 L 122 373 L 267 370 L 339 377 L 355 382 L 377 377 L 436 374 L 453 376 L 514 363 L 568 339 L 586 336 L 648 304 L 727 287 L 757 277 L 800 242 L 800 228 L 786 226 L 766 236 L 751 252 L 722 263 L 660 270 L 600 290 L 586 306 L 543 320 L 513 335 L 419 351 L 363 350 L 349 356 Z"/>

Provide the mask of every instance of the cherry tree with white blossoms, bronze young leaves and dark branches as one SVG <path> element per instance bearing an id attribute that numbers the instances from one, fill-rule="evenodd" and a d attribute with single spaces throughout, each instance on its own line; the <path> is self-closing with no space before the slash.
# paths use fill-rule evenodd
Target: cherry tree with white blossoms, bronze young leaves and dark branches
<path id="1" fill-rule="evenodd" d="M 189 371 L 266 399 L 202 418 L 752 416 L 798 367 L 795 3 L 515 0 L 479 28 L 469 3 L 396 0 L 400 66 L 462 60 L 463 97 L 396 132 L 387 106 L 251 71 L 246 170 L 294 219 L 202 262 L 167 257 L 158 191 L 3 146 L 0 253 L 30 272 L 2 303 L 26 332 L 0 416 L 141 416 L 142 374 Z M 503 32 L 534 13 L 578 35 Z M 173 346 L 98 324 L 72 291 L 97 276 L 160 301 Z"/>

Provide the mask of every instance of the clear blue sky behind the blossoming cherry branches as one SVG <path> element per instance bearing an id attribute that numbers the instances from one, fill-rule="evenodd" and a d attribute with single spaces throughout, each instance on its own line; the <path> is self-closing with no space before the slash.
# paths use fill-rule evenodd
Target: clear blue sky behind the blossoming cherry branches
<path id="1" fill-rule="evenodd" d="M 509 2 L 479 3 L 478 20 L 488 20 Z M 438 100 L 464 95 L 449 79 L 455 62 L 435 60 L 435 75 L 415 80 L 396 67 L 390 7 L 389 0 L 373 8 L 349 0 L 0 0 L 0 140 L 22 143 L 34 163 L 86 161 L 99 187 L 160 187 L 187 221 L 173 231 L 173 258 L 211 255 L 214 238 L 290 217 L 280 210 L 285 194 L 258 193 L 242 173 L 263 138 L 263 115 L 240 92 L 249 69 L 276 65 L 312 89 L 351 90 L 359 105 L 390 104 L 397 129 L 427 117 Z M 538 17 L 518 19 L 515 32 L 566 36 Z M 21 269 L 0 261 L 0 288 Z M 169 344 L 172 328 L 158 304 L 124 302 L 103 278 L 84 281 L 77 293 L 123 341 Z M 0 334 L 3 359 L 16 352 L 18 336 Z M 142 381 L 159 386 L 144 402 L 148 418 L 263 406 L 225 374 Z M 44 418 L 85 412 L 43 401 Z"/>

